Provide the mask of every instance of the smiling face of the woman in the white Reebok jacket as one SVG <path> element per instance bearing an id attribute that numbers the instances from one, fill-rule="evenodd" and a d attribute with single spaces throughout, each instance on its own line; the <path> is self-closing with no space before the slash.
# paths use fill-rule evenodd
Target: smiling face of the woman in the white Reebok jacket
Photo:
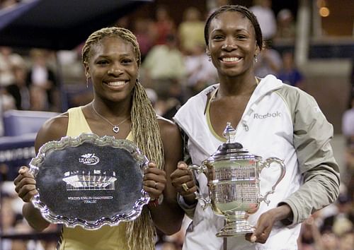
<path id="1" fill-rule="evenodd" d="M 219 13 L 210 21 L 207 52 L 221 76 L 253 72 L 257 46 L 251 21 L 238 11 Z"/>

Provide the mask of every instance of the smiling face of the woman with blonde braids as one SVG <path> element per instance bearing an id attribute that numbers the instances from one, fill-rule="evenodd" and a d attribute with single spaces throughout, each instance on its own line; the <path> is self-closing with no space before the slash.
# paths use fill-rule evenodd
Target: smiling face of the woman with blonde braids
<path id="1" fill-rule="evenodd" d="M 138 76 L 132 43 L 120 37 L 104 37 L 93 44 L 85 73 L 87 78 L 91 78 L 95 98 L 112 102 L 130 100 Z"/>

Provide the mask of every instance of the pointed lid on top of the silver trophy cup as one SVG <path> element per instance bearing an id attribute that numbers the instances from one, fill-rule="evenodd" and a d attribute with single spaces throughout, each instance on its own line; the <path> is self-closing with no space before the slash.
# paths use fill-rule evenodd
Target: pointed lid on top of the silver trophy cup
<path id="1" fill-rule="evenodd" d="M 231 122 L 227 122 L 227 126 L 224 129 L 223 136 L 227 138 L 226 143 L 222 143 L 217 148 L 217 152 L 211 155 L 210 160 L 223 160 L 224 157 L 240 157 L 243 158 L 257 158 L 256 155 L 251 155 L 248 150 L 244 149 L 241 143 L 235 141 L 236 130 L 232 127 Z"/>

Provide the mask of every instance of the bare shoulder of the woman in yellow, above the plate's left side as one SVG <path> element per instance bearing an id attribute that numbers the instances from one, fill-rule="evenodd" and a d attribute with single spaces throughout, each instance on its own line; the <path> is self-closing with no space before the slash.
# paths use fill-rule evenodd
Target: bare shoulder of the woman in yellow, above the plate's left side
<path id="1" fill-rule="evenodd" d="M 45 121 L 35 138 L 36 150 L 48 141 L 57 141 L 63 136 L 66 136 L 68 121 L 69 115 L 67 113 L 59 114 Z"/>

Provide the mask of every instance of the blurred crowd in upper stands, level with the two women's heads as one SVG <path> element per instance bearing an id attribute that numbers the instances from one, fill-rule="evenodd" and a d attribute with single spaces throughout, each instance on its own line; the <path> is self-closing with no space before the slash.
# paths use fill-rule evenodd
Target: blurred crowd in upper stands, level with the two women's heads
<path id="1" fill-rule="evenodd" d="M 8 7 L 18 1 L 3 1 Z M 258 56 L 256 75 L 263 77 L 272 73 L 285 83 L 304 88 L 304 76 L 297 69 L 292 51 L 280 54 L 272 47 L 273 41 L 295 37 L 293 13 L 283 9 L 275 16 L 270 0 L 256 1 L 251 7 L 262 27 L 268 47 Z M 217 1 L 217 5 L 228 1 Z M 207 85 L 217 83 L 217 72 L 205 53 L 204 24 L 207 13 L 193 6 L 183 11 L 183 19 L 176 23 L 168 6 L 158 6 L 154 18 L 120 18 L 116 25 L 132 30 L 137 36 L 142 52 L 140 81 L 152 98 L 156 112 L 170 119 L 179 105 L 200 92 Z M 0 48 L 0 95 L 2 112 L 8 109 L 61 111 L 62 95 L 68 95 L 69 106 L 83 105 L 91 100 L 91 90 L 84 91 L 84 69 L 72 71 L 72 78 L 81 84 L 70 85 L 62 93 L 58 83 L 57 61 L 66 69 L 81 65 L 81 46 L 70 52 L 50 52 L 31 49 L 16 52 L 11 47 Z M 64 72 L 66 73 L 66 72 Z M 79 75 L 79 76 L 78 76 Z M 60 76 L 66 78 L 68 76 Z M 70 76 L 69 76 L 70 77 Z M 79 86 L 77 86 L 79 85 Z M 91 87 L 91 86 L 90 86 Z M 65 90 L 65 88 L 64 88 Z M 0 131 L 1 133 L 1 131 Z"/>

